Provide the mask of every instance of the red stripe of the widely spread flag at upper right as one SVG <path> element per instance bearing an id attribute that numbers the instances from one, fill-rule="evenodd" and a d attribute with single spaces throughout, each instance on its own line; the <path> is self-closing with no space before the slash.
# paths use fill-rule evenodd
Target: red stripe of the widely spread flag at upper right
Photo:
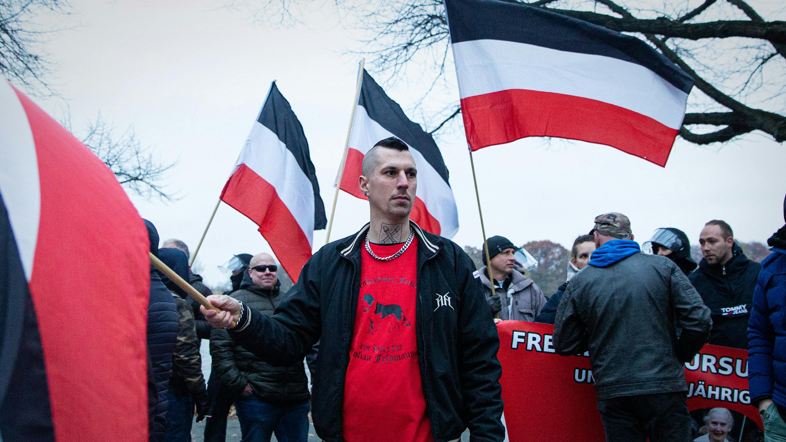
<path id="1" fill-rule="evenodd" d="M 678 131 L 640 113 L 572 95 L 510 89 L 461 100 L 472 150 L 525 137 L 610 145 L 666 166 Z"/>

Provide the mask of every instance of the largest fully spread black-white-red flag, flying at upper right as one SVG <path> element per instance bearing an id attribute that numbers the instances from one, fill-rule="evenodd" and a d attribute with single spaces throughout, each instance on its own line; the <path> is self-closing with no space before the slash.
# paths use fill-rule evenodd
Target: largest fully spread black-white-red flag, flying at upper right
<path id="1" fill-rule="evenodd" d="M 693 80 L 663 54 L 633 36 L 532 6 L 445 6 L 470 149 L 560 137 L 666 165 Z"/>

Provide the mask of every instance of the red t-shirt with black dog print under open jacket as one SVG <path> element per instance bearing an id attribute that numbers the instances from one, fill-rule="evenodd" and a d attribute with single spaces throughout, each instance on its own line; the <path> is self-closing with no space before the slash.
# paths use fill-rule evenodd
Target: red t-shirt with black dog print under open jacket
<path id="1" fill-rule="evenodd" d="M 402 244 L 371 245 L 390 256 Z M 417 359 L 417 238 L 395 260 L 362 249 L 342 436 L 347 442 L 431 442 Z"/>

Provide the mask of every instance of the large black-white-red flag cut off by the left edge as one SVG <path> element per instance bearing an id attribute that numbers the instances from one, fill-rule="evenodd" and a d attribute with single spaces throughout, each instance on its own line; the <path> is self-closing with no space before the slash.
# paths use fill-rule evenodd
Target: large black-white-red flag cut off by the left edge
<path id="1" fill-rule="evenodd" d="M 147 441 L 145 224 L 5 81 L 0 164 L 0 440 Z"/>

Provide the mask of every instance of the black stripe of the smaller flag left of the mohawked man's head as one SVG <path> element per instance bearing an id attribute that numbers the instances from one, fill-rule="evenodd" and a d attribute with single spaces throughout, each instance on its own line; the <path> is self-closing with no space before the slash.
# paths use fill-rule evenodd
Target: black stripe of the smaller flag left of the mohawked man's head
<path id="1" fill-rule="evenodd" d="M 303 126 L 295 112 L 292 112 L 292 106 L 278 90 L 276 83 L 270 85 L 270 93 L 267 94 L 265 105 L 262 106 L 257 121 L 270 129 L 287 146 L 300 169 L 308 177 L 314 188 L 314 230 L 324 229 L 328 219 L 325 215 L 325 204 L 319 196 L 317 173 L 314 171 L 314 163 L 311 162 L 306 134 L 303 133 Z"/>

